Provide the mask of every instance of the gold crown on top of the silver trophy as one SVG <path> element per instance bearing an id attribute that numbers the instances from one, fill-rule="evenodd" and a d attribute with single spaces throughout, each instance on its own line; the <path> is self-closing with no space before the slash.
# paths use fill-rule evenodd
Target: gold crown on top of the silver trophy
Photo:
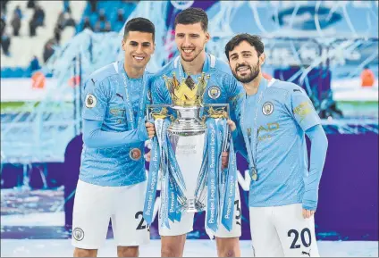
<path id="1" fill-rule="evenodd" d="M 164 75 L 164 82 L 174 105 L 198 106 L 203 104 L 203 96 L 209 78 L 210 76 L 203 72 L 198 78 L 198 83 L 195 83 L 190 74 L 187 79 L 181 79 L 181 82 L 179 82 L 175 72 L 173 72 L 173 78 Z"/>

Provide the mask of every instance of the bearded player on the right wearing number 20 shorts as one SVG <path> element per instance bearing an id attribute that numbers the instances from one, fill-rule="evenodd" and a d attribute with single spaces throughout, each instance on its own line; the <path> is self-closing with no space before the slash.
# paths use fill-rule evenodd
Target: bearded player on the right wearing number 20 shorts
<path id="1" fill-rule="evenodd" d="M 245 88 L 240 126 L 251 176 L 250 231 L 257 256 L 318 256 L 315 221 L 318 186 L 328 141 L 304 90 L 263 78 L 264 44 L 240 34 L 225 46 L 234 77 Z M 306 138 L 311 141 L 310 167 Z"/>

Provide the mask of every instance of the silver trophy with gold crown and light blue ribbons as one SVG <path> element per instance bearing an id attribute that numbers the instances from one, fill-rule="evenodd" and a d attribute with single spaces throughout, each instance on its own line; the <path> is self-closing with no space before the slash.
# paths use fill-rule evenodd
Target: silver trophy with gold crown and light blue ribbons
<path id="1" fill-rule="evenodd" d="M 206 225 L 216 230 L 219 222 L 232 229 L 236 161 L 226 120 L 228 104 L 203 104 L 209 76 L 195 83 L 164 76 L 173 104 L 147 105 L 147 119 L 154 120 L 150 169 L 144 218 L 151 224 L 158 171 L 161 182 L 161 222 L 180 221 L 181 212 L 206 209 Z M 172 114 L 173 113 L 173 114 Z M 221 154 L 229 151 L 229 167 L 222 169 Z"/>

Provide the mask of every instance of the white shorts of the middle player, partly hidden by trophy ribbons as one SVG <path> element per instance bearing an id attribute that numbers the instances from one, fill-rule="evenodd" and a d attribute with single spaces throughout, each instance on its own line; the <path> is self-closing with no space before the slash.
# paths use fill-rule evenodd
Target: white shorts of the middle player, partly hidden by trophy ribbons
<path id="1" fill-rule="evenodd" d="M 238 187 L 238 182 L 236 182 L 236 196 L 234 201 L 234 218 L 232 222 L 232 230 L 229 231 L 223 227 L 223 224 L 219 223 L 218 229 L 216 232 L 213 232 L 211 229 L 206 229 L 206 233 L 210 236 L 215 237 L 240 237 L 241 235 L 241 210 L 240 210 L 240 190 Z M 193 220 L 194 213 L 181 213 L 181 221 L 169 221 L 170 229 L 167 229 L 165 226 L 161 227 L 161 218 L 158 216 L 158 225 L 159 225 L 159 235 L 161 236 L 180 236 L 187 234 L 193 230 Z M 205 220 L 206 224 L 206 220 Z"/>

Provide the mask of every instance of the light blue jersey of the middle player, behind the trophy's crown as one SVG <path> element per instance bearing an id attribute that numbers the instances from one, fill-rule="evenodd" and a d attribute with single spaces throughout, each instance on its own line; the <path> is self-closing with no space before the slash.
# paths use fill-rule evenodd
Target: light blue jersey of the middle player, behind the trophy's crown
<path id="1" fill-rule="evenodd" d="M 172 104 L 172 99 L 164 84 L 163 76 L 173 77 L 173 72 L 178 79 L 187 78 L 181 66 L 181 58 L 177 56 L 173 61 L 167 63 L 161 71 L 158 71 L 152 80 L 151 96 L 154 104 Z M 229 104 L 232 120 L 235 120 L 234 111 L 238 97 L 243 95 L 243 87 L 233 77 L 232 71 L 226 62 L 216 58 L 212 54 L 206 54 L 206 62 L 203 72 L 210 75 L 204 93 L 204 104 Z M 195 83 L 198 75 L 191 75 Z"/>

